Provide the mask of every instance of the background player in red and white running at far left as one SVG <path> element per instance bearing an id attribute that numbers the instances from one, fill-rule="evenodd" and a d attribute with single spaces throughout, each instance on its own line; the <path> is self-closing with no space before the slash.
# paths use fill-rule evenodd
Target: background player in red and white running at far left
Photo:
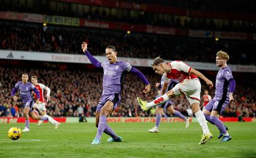
<path id="1" fill-rule="evenodd" d="M 53 117 L 49 116 L 46 114 L 46 107 L 45 107 L 45 104 L 46 102 L 49 101 L 50 99 L 50 93 L 51 93 L 51 89 L 48 88 L 48 86 L 45 86 L 43 85 L 42 83 L 38 83 L 37 82 L 37 77 L 36 75 L 33 75 L 31 77 L 31 82 L 32 84 L 35 86 L 36 89 L 38 89 L 39 91 L 39 95 L 40 95 L 40 102 L 39 103 L 35 103 L 33 105 L 33 108 L 34 109 L 37 109 L 39 111 L 39 114 L 43 117 L 47 117 L 49 122 L 51 122 L 51 124 L 54 125 L 54 128 L 57 129 L 60 125 L 59 122 L 57 122 L 56 120 L 53 119 Z M 45 100 L 45 97 L 44 97 L 44 90 L 47 91 L 47 101 Z M 35 98 L 37 98 L 37 94 L 35 94 Z M 39 120 L 38 121 L 38 125 L 37 126 L 40 126 L 41 123 L 43 123 L 43 120 Z"/>

